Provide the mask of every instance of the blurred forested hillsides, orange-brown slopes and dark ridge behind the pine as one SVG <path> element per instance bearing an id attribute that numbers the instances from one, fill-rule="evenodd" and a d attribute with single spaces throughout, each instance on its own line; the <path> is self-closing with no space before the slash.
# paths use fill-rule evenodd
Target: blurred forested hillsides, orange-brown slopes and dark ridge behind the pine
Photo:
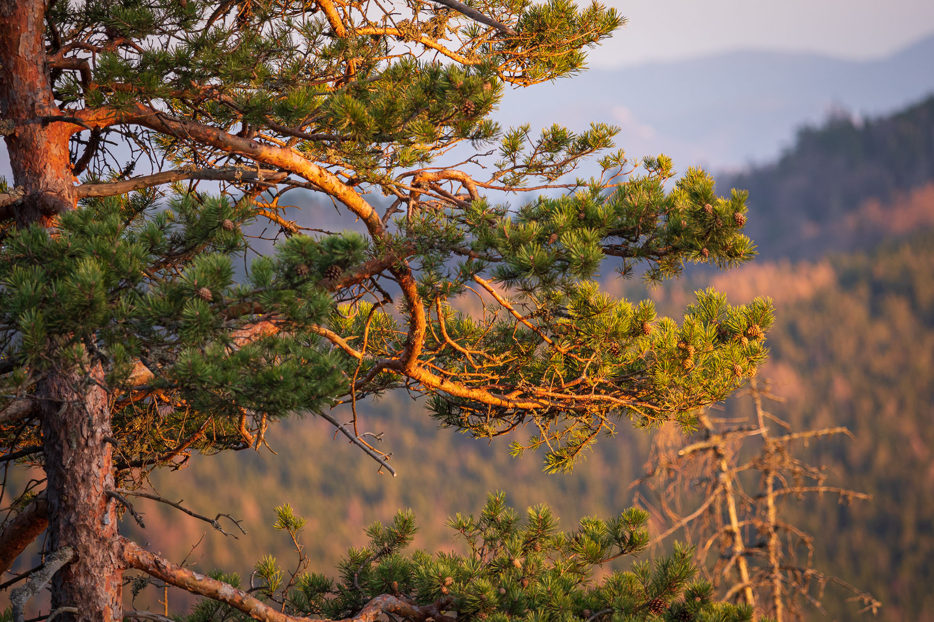
<path id="1" fill-rule="evenodd" d="M 934 236 L 919 232 L 934 225 L 932 179 L 934 98 L 862 126 L 840 117 L 803 130 L 779 162 L 721 181 L 750 190 L 750 227 L 763 257 L 652 293 L 665 312 L 683 310 L 692 288 L 712 282 L 736 302 L 775 299 L 771 363 L 761 376 L 774 380 L 786 401 L 772 411 L 799 428 L 848 426 L 855 441 L 814 442 L 807 457 L 827 463 L 835 482 L 873 495 L 852 506 L 828 497 L 791 509 L 795 502 L 788 500 L 788 517 L 818 536 L 818 567 L 884 602 L 882 620 L 934 620 L 927 587 L 934 580 Z M 884 242 L 899 236 L 900 242 Z M 618 293 L 645 295 L 632 282 Z M 516 505 L 555 506 L 565 526 L 585 515 L 612 515 L 632 501 L 629 485 L 649 440 L 644 431 L 621 427 L 573 475 L 546 476 L 534 454 L 514 460 L 505 443 L 436 430 L 403 395 L 361 405 L 361 418 L 368 431 L 392 430 L 380 447 L 392 451 L 399 477 L 377 475 L 374 463 L 314 420 L 271 431 L 278 455 L 195 458 L 180 477 L 155 477 L 166 497 L 185 498 L 211 516 L 246 519 L 250 533 L 239 541 L 208 532 L 191 555 L 204 556 L 197 567 L 248 573 L 262 553 L 288 556 L 290 543 L 269 529 L 273 508 L 285 502 L 310 518 L 306 552 L 320 567 L 361 543 L 364 525 L 403 505 L 423 525 L 416 545 L 443 546 L 445 519 L 476 511 L 485 493 L 498 488 Z M 393 425 L 400 421 L 405 425 Z M 195 491 L 209 493 L 199 498 Z M 204 523 L 163 506 L 144 509 L 154 541 L 157 532 L 161 542 L 171 534 L 164 552 L 174 560 L 205 532 Z M 853 619 L 842 597 L 828 595 L 824 604 L 828 619 Z"/>

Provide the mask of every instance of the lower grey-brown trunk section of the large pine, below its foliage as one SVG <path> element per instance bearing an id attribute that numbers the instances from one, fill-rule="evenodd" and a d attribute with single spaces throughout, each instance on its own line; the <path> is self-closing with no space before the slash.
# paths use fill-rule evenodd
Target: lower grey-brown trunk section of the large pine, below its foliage
<path id="1" fill-rule="evenodd" d="M 52 578 L 52 608 L 74 606 L 80 622 L 123 617 L 122 561 L 118 546 L 110 444 L 110 409 L 101 388 L 104 370 L 92 364 L 50 375 L 40 388 L 46 455 L 50 550 L 71 546 L 76 560 Z"/>

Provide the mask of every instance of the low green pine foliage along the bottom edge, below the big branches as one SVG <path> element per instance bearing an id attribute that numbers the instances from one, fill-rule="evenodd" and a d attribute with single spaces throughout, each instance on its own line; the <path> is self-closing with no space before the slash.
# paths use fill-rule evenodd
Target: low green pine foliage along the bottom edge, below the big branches
<path id="1" fill-rule="evenodd" d="M 277 527 L 301 520 L 288 506 L 277 512 Z M 644 510 L 630 508 L 616 518 L 583 518 L 576 529 L 562 532 L 549 507 L 530 507 L 523 519 L 502 492 L 492 493 L 478 516 L 448 520 L 463 554 L 407 552 L 418 528 L 414 514 L 401 510 L 390 525 L 377 522 L 366 530 L 369 543 L 347 551 L 336 578 L 305 572 L 287 586 L 290 571 L 266 557 L 252 580 L 256 592 L 283 603 L 290 615 L 326 619 L 351 617 L 376 596 L 391 594 L 419 605 L 441 601 L 448 615 L 485 622 L 753 620 L 751 607 L 714 601 L 711 584 L 697 579 L 692 546 L 676 544 L 670 556 L 637 561 L 630 571 L 604 569 L 644 551 L 647 521 Z M 240 584 L 235 575 L 212 576 Z M 214 601 L 200 601 L 185 617 L 225 619 L 248 618 Z"/>

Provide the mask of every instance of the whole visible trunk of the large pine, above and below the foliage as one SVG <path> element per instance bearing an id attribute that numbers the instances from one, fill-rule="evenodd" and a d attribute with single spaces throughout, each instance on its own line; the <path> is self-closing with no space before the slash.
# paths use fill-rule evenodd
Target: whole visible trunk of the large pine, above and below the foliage
<path id="1" fill-rule="evenodd" d="M 16 187 L 17 225 L 54 227 L 75 208 L 68 140 L 74 126 L 52 93 L 45 44 L 44 0 L 0 1 L 0 113 Z M 59 622 L 122 618 L 122 562 L 113 487 L 110 412 L 100 363 L 53 368 L 36 388 L 46 459 L 48 548 L 72 546 L 75 560 L 52 577 L 52 607 L 71 606 Z"/>

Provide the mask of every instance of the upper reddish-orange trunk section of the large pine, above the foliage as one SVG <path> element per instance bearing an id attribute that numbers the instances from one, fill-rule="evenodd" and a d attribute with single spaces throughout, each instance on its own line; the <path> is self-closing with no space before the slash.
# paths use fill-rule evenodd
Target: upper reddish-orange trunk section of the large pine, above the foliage
<path id="1" fill-rule="evenodd" d="M 73 130 L 48 122 L 61 113 L 51 89 L 44 17 L 41 0 L 0 2 L 0 114 L 14 183 L 23 193 L 13 205 L 20 226 L 50 227 L 76 204 L 68 155 Z"/>

